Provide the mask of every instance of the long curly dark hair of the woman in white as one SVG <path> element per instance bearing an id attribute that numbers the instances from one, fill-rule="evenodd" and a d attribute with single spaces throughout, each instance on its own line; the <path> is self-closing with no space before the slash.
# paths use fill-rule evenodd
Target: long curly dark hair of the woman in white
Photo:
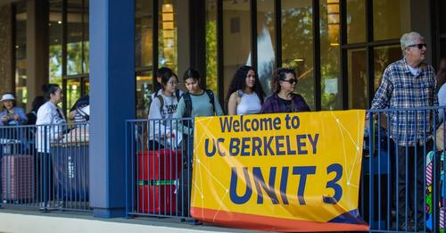
<path id="1" fill-rule="evenodd" d="M 238 90 L 244 90 L 246 87 L 246 76 L 248 76 L 249 71 L 254 71 L 255 83 L 252 88 L 253 91 L 259 96 L 260 103 L 263 104 L 263 99 L 265 98 L 265 92 L 263 91 L 263 87 L 261 87 L 259 76 L 257 75 L 257 71 L 252 66 L 244 65 L 238 68 L 235 71 L 234 77 L 232 78 L 231 84 L 227 90 L 227 100 L 229 97 Z"/>

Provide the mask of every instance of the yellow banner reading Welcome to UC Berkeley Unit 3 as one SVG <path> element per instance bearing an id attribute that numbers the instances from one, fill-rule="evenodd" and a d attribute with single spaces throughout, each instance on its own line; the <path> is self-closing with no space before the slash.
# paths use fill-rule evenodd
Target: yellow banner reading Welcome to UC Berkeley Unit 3
<path id="1" fill-rule="evenodd" d="M 364 119 L 363 110 L 195 118 L 191 214 L 245 229 L 368 229 L 358 214 Z"/>

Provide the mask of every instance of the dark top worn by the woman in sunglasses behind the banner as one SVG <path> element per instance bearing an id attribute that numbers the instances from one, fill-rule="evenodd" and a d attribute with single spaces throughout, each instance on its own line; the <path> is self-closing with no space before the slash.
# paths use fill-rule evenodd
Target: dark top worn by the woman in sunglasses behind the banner
<path id="1" fill-rule="evenodd" d="M 265 103 L 261 106 L 260 113 L 310 112 L 310 107 L 301 95 L 294 93 L 292 95 L 291 107 L 287 107 L 285 100 L 277 96 L 277 93 L 274 93 L 265 100 Z"/>

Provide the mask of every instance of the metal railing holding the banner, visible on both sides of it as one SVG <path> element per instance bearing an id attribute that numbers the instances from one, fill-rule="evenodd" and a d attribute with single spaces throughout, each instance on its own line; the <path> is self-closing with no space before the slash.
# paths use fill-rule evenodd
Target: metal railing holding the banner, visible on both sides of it
<path id="1" fill-rule="evenodd" d="M 435 134 L 443 109 L 367 111 L 359 212 L 370 231 L 444 229 L 446 162 Z M 191 119 L 126 122 L 128 215 L 190 218 L 193 138 L 178 130 L 183 122 L 193 129 Z"/>

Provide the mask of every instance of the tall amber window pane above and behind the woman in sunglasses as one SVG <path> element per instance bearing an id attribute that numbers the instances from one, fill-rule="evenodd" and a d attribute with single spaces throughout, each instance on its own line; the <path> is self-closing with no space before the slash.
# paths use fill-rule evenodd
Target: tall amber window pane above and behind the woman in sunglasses
<path id="1" fill-rule="evenodd" d="M 297 71 L 296 92 L 314 109 L 313 7 L 311 0 L 282 1 L 282 61 Z"/>

